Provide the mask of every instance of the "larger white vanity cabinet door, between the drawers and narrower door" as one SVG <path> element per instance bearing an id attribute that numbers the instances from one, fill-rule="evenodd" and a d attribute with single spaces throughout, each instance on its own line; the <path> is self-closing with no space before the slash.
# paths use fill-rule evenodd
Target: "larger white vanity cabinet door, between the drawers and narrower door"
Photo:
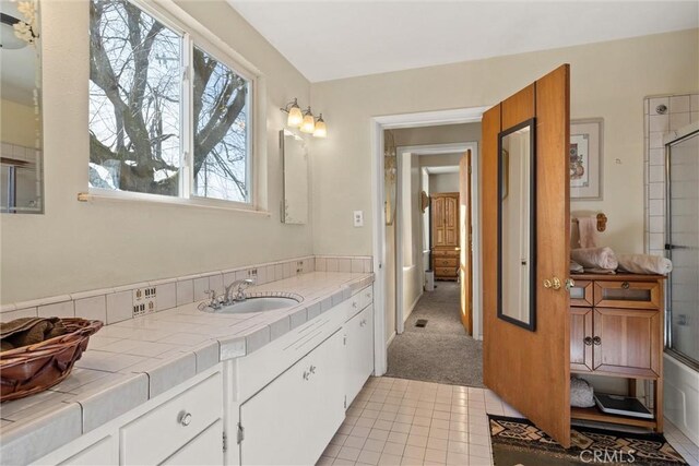
<path id="1" fill-rule="evenodd" d="M 344 419 L 342 331 L 240 405 L 240 463 L 311 465 Z"/>

